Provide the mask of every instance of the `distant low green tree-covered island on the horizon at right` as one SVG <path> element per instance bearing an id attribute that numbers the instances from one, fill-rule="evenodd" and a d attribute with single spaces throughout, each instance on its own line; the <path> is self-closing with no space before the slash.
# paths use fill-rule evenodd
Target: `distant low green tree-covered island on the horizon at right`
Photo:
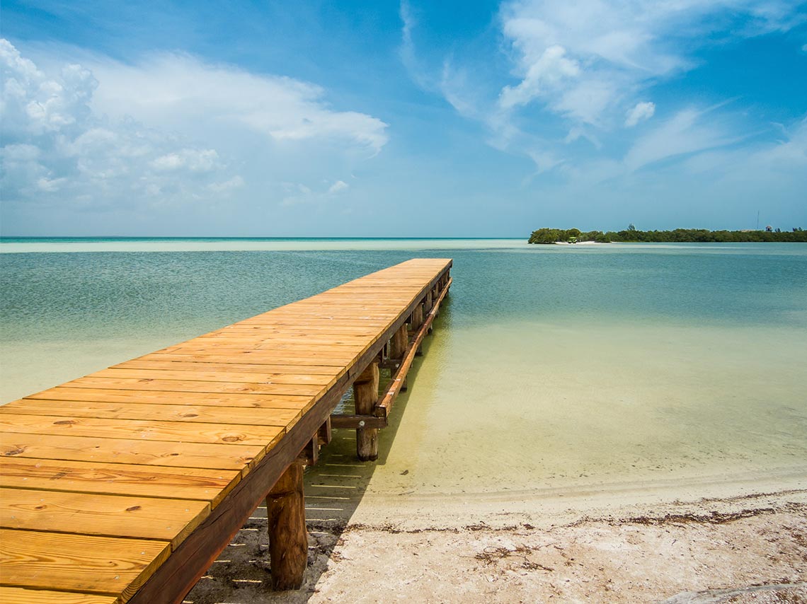
<path id="1" fill-rule="evenodd" d="M 559 228 L 539 228 L 529 235 L 530 244 L 578 244 L 593 242 L 610 244 L 625 243 L 663 243 L 663 244 L 700 244 L 700 243 L 807 243 L 807 231 L 796 227 L 792 231 L 781 231 L 767 227 L 764 231 L 709 231 L 701 228 L 676 228 L 675 231 L 639 231 L 633 224 L 625 231 L 580 231 L 577 228 L 567 230 Z"/>

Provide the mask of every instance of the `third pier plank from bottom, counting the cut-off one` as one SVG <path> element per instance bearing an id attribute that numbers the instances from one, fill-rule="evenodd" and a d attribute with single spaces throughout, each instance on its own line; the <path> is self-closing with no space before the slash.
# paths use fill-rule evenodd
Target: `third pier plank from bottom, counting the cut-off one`
<path id="1" fill-rule="evenodd" d="M 210 504 L 28 489 L 0 490 L 0 527 L 136 537 L 176 548 L 210 514 Z"/>

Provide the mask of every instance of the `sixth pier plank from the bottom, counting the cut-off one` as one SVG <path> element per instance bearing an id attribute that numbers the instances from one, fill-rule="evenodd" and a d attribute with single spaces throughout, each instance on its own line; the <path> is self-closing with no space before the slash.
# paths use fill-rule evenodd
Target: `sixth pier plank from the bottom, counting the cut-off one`
<path id="1" fill-rule="evenodd" d="M 107 403 L 109 405 L 109 403 Z M 120 406 L 112 403 L 111 406 Z M 130 405 L 130 407 L 144 407 L 148 405 Z M 152 409 L 164 410 L 168 405 L 148 406 Z M 26 406 L 19 407 L 25 410 Z M 226 418 L 228 407 L 214 407 L 215 411 L 222 412 Z M 244 410 L 236 409 L 243 412 Z M 66 413 L 65 415 L 37 415 L 0 413 L 0 428 L 6 432 L 16 434 L 67 434 L 73 436 L 94 436 L 95 438 L 169 440 L 185 443 L 238 443 L 264 446 L 278 437 L 288 425 L 289 412 L 285 409 L 286 419 L 274 418 L 274 425 L 253 425 L 249 423 L 195 423 L 188 421 L 157 421 L 153 419 L 140 420 L 118 417 L 108 419 L 103 413 L 87 413 L 87 417 Z M 249 410 L 254 414 L 253 410 Z M 266 413 L 266 411 L 263 411 Z M 120 412 L 114 415 L 121 415 Z M 187 419 L 186 413 L 183 413 Z M 235 422 L 237 419 L 230 418 Z M 266 424 L 272 419 L 261 418 Z"/>

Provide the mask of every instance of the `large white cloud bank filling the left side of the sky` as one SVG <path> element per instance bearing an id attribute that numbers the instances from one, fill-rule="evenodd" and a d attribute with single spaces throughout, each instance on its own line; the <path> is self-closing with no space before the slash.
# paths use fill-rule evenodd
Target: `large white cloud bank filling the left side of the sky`
<path id="1" fill-rule="evenodd" d="M 40 56 L 60 64 L 59 52 Z M 0 69 L 4 230 L 20 226 L 7 216 L 46 206 L 207 211 L 258 193 L 280 203 L 282 181 L 336 182 L 387 143 L 386 123 L 333 109 L 319 86 L 186 55 L 134 65 L 83 55 L 60 71 L 0 39 Z"/>

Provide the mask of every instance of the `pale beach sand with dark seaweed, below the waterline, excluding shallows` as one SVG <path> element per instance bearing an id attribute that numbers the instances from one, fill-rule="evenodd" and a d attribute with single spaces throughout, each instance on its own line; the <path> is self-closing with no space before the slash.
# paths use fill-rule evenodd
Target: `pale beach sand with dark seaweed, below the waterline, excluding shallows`
<path id="1" fill-rule="evenodd" d="M 359 506 L 360 508 L 362 506 Z M 805 490 L 625 506 L 535 526 L 309 521 L 298 591 L 266 582 L 261 510 L 186 598 L 240 602 L 803 602 Z M 404 514 L 401 514 L 404 515 Z M 408 514 L 407 514 L 408 515 Z"/>

